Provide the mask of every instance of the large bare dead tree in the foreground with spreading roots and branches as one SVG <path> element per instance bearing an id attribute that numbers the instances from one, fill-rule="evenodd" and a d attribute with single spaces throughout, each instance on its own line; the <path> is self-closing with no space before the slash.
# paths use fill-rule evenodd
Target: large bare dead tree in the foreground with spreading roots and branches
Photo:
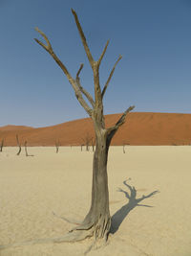
<path id="1" fill-rule="evenodd" d="M 95 241 L 97 239 L 108 238 L 111 227 L 111 217 L 109 210 L 109 192 L 108 192 L 108 176 L 107 176 L 107 160 L 108 151 L 112 141 L 112 138 L 117 132 L 117 129 L 121 127 L 126 119 L 127 113 L 129 113 L 135 106 L 130 106 L 118 119 L 116 125 L 110 128 L 105 127 L 104 115 L 103 115 L 103 97 L 108 88 L 109 82 L 114 74 L 115 68 L 118 61 L 122 58 L 119 56 L 117 61 L 109 75 L 108 80 L 101 88 L 99 82 L 99 67 L 102 58 L 105 55 L 109 41 L 107 41 L 104 50 L 98 60 L 95 60 L 88 47 L 86 37 L 82 31 L 81 25 L 78 21 L 78 17 L 74 10 L 72 10 L 74 15 L 74 20 L 77 26 L 77 30 L 81 37 L 87 58 L 89 59 L 90 65 L 93 69 L 94 74 L 94 86 L 95 86 L 95 97 L 93 98 L 91 94 L 85 90 L 79 80 L 79 74 L 83 68 L 83 64 L 76 73 L 75 79 L 71 76 L 66 66 L 61 62 L 61 60 L 53 52 L 53 48 L 48 37 L 41 32 L 38 28 L 35 30 L 44 37 L 47 44 L 35 39 L 35 41 L 40 44 L 55 60 L 55 62 L 62 69 L 67 79 L 71 83 L 74 89 L 75 97 L 79 104 L 84 107 L 88 115 L 92 118 L 95 133 L 96 133 L 96 151 L 94 153 L 93 161 L 93 184 L 92 184 L 92 202 L 91 207 L 86 215 L 84 221 L 74 227 L 68 234 L 60 238 L 49 238 L 42 240 L 32 241 L 31 244 L 39 243 L 60 243 L 60 242 L 75 242 L 84 240 L 87 237 L 95 236 Z M 26 242 L 30 244 L 29 242 Z M 25 243 L 25 244 L 26 244 Z M 24 244 L 24 243 L 23 243 Z M 5 247 L 5 246 L 4 246 Z M 2 248 L 2 246 L 0 246 Z"/>

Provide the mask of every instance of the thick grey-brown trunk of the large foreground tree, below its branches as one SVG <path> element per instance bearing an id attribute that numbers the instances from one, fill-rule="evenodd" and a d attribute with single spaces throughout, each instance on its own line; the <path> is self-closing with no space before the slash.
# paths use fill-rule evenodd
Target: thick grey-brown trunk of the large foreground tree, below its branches
<path id="1" fill-rule="evenodd" d="M 105 238 L 105 240 L 107 240 L 111 226 L 107 176 L 108 150 L 109 145 L 107 145 L 106 137 L 97 134 L 93 161 L 91 207 L 81 226 L 76 228 L 91 228 L 96 238 Z"/>

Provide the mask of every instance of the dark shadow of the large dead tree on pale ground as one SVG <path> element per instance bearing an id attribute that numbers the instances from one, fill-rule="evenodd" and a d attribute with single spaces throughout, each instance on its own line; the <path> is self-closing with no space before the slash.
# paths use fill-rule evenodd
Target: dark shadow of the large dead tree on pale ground
<path id="1" fill-rule="evenodd" d="M 127 180 L 124 180 L 123 184 L 129 189 L 130 193 L 125 191 L 125 190 L 122 190 L 120 188 L 118 188 L 118 192 L 124 193 L 125 197 L 128 198 L 129 201 L 128 201 L 128 203 L 123 205 L 119 210 L 117 210 L 117 212 L 112 216 L 112 224 L 111 224 L 111 228 L 110 228 L 110 233 L 111 234 L 115 234 L 117 232 L 117 230 L 118 230 L 120 224 L 122 223 L 122 221 L 124 221 L 126 216 L 135 207 L 137 207 L 137 206 L 153 207 L 153 206 L 147 205 L 147 204 L 139 204 L 139 202 L 142 201 L 143 199 L 151 198 L 154 195 L 156 195 L 157 193 L 159 193 L 159 191 L 156 190 L 156 191 L 150 193 L 147 196 L 143 195 L 141 198 L 136 198 L 137 197 L 137 190 L 135 189 L 135 187 L 130 186 L 129 184 L 127 184 Z"/>

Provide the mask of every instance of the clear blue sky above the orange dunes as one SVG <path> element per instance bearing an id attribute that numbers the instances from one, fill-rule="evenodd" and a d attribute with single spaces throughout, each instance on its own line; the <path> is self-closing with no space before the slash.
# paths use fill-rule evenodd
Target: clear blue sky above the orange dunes
<path id="1" fill-rule="evenodd" d="M 71 8 L 102 85 L 119 54 L 105 94 L 105 114 L 124 111 L 191 113 L 191 0 L 0 0 L 0 126 L 51 126 L 87 117 L 53 58 L 34 37 L 48 35 L 57 56 L 93 92 L 92 70 Z"/>

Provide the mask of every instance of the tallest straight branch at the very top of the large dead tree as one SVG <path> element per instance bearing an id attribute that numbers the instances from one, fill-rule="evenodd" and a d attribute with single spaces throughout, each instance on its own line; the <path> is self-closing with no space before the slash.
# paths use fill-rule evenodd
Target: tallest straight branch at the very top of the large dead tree
<path id="1" fill-rule="evenodd" d="M 90 49 L 89 49 L 89 47 L 88 47 L 88 44 L 87 44 L 87 41 L 86 41 L 86 37 L 85 37 L 85 35 L 84 35 L 84 33 L 83 33 L 83 30 L 82 30 L 82 28 L 81 28 L 81 25 L 80 25 L 80 23 L 79 23 L 77 14 L 76 14 L 76 12 L 74 12 L 74 9 L 72 9 L 72 12 L 73 12 L 73 15 L 74 15 L 74 20 L 75 20 L 75 23 L 76 23 L 76 26 L 77 26 L 79 35 L 80 35 L 80 37 L 81 37 L 81 41 L 82 41 L 82 43 L 83 43 L 83 46 L 84 46 L 86 55 L 87 55 L 87 57 L 88 57 L 88 59 L 89 59 L 89 62 L 90 62 L 90 64 L 91 64 L 92 68 L 94 68 L 94 62 L 95 62 L 95 60 L 94 60 L 94 58 L 92 57 L 92 54 L 91 54 Z"/>

